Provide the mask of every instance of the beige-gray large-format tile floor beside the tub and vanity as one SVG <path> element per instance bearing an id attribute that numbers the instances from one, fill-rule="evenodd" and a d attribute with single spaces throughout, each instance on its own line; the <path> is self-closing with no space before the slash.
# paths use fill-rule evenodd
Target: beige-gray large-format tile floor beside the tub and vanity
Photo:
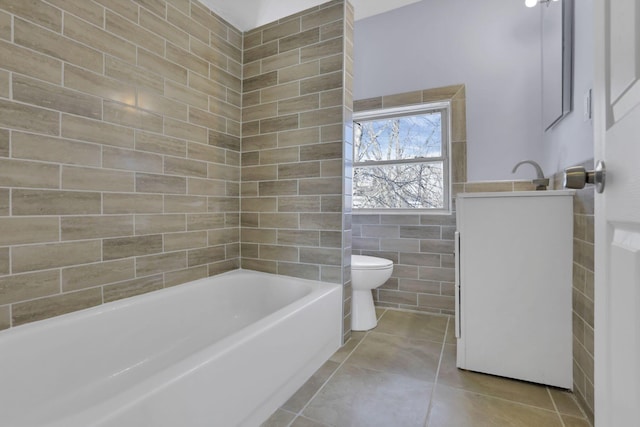
<path id="1" fill-rule="evenodd" d="M 590 426 L 569 392 L 457 369 L 453 319 L 378 315 L 262 426 Z"/>

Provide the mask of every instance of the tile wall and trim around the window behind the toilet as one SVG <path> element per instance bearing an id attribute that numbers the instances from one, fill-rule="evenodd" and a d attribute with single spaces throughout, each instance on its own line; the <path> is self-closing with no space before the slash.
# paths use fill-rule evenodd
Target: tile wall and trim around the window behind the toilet
<path id="1" fill-rule="evenodd" d="M 355 111 L 451 102 L 452 192 L 467 178 L 463 85 L 357 100 Z M 353 213 L 353 252 L 393 261 L 391 278 L 374 290 L 379 307 L 453 314 L 455 212 L 443 215 Z"/>

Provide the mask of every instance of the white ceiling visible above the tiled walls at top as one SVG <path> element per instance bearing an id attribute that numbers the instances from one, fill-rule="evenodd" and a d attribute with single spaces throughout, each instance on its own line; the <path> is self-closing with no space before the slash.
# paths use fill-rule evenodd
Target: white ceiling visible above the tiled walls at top
<path id="1" fill-rule="evenodd" d="M 268 24 L 328 0 L 200 0 L 241 31 Z M 420 0 L 349 0 L 356 21 Z"/>

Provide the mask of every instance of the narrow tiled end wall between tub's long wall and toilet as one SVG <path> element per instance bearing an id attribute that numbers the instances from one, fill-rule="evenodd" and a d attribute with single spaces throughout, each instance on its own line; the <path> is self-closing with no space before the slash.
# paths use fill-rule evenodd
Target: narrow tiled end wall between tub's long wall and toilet
<path id="1" fill-rule="evenodd" d="M 346 283 L 344 121 L 352 65 L 345 46 L 352 31 L 353 10 L 339 0 L 245 34 L 243 268 Z"/>

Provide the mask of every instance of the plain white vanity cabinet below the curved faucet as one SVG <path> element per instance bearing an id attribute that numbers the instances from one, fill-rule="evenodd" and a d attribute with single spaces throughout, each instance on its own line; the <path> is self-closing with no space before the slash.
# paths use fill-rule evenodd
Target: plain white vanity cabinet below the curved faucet
<path id="1" fill-rule="evenodd" d="M 572 190 L 457 195 L 457 366 L 573 388 Z"/>

